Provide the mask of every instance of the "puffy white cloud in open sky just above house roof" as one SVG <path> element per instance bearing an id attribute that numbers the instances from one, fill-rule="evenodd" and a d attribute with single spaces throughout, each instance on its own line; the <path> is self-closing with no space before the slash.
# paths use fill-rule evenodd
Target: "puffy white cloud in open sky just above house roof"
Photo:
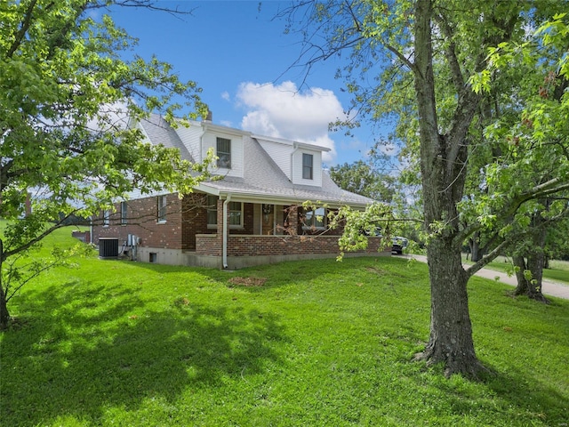
<path id="1" fill-rule="evenodd" d="M 336 157 L 328 124 L 343 117 L 344 112 L 332 91 L 313 87 L 300 92 L 293 82 L 249 82 L 239 85 L 236 98 L 248 111 L 241 122 L 243 129 L 329 148 L 330 152 L 323 153 L 327 163 Z"/>

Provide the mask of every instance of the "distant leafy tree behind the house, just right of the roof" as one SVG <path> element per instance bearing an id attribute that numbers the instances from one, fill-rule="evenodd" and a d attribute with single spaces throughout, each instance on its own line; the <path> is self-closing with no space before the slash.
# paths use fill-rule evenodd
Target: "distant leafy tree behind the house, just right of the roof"
<path id="1" fill-rule="evenodd" d="M 330 176 L 341 189 L 365 197 L 390 202 L 396 191 L 396 179 L 385 173 L 378 173 L 363 160 L 332 166 Z"/>

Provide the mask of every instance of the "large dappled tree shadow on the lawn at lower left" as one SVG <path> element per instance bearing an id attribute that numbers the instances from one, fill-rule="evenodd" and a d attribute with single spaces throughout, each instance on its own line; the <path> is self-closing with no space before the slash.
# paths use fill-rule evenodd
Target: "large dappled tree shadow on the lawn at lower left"
<path id="1" fill-rule="evenodd" d="M 3 425 L 69 415 L 98 424 L 108 407 L 174 402 L 278 359 L 271 342 L 283 340 L 283 331 L 267 313 L 184 299 L 144 311 L 133 286 L 80 285 L 20 296 L 20 311 L 34 311 L 2 336 Z"/>

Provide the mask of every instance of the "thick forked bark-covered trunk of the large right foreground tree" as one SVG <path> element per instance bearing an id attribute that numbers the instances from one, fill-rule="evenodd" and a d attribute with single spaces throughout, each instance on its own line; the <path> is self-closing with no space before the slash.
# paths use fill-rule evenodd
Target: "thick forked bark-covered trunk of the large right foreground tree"
<path id="1" fill-rule="evenodd" d="M 429 364 L 445 364 L 445 374 L 477 377 L 483 369 L 477 360 L 469 318 L 466 285 L 462 268 L 462 241 L 457 203 L 466 179 L 467 134 L 478 99 L 467 87 L 460 92 L 453 128 L 439 133 L 433 74 L 431 40 L 432 3 L 415 3 L 414 86 L 417 96 L 421 138 L 421 181 L 425 227 L 429 230 L 428 259 L 431 289 L 430 337 L 418 359 Z M 453 59 L 451 59 L 453 60 Z M 461 79 L 457 76 L 457 79 Z"/>

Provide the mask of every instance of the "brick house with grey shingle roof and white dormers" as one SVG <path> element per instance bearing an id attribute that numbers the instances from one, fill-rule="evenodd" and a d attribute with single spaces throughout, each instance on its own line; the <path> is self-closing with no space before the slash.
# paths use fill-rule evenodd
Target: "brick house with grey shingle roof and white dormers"
<path id="1" fill-rule="evenodd" d="M 322 167 L 324 147 L 211 121 L 174 129 L 152 115 L 138 125 L 148 141 L 180 149 L 181 157 L 192 162 L 214 149 L 219 159 L 213 173 L 223 178 L 204 181 L 182 198 L 133 194 L 115 212 L 103 213 L 92 238 L 103 251 L 110 242 L 110 256 L 224 269 L 335 257 L 341 230 L 327 229 L 326 210 L 341 205 L 364 209 L 373 202 L 332 181 Z M 326 207 L 303 209 L 307 200 Z M 390 253 L 379 252 L 380 246 L 381 238 L 370 238 L 360 254 Z"/>

